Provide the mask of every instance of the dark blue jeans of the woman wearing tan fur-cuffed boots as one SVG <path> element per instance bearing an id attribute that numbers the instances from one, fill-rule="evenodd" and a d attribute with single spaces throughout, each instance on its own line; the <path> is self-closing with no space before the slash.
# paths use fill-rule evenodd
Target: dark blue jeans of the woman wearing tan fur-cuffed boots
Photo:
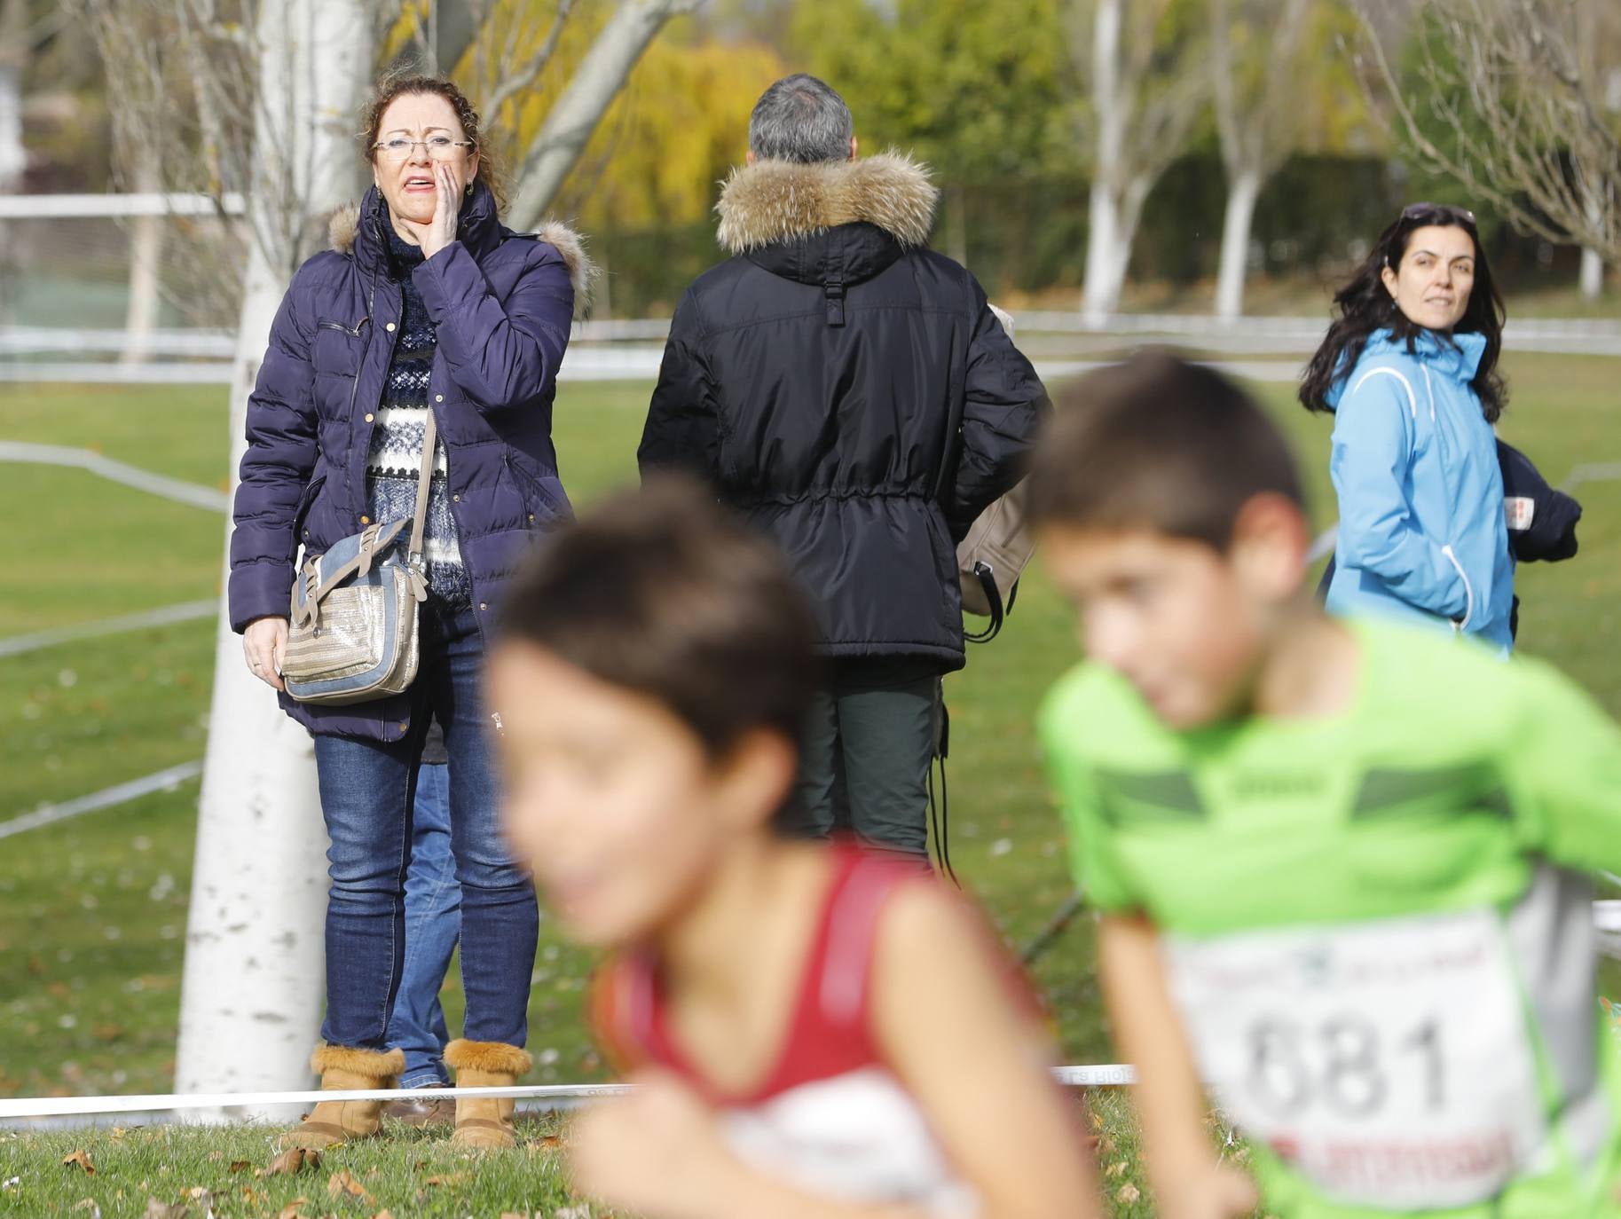
<path id="1" fill-rule="evenodd" d="M 522 1046 L 540 908 L 501 836 L 485 716 L 483 637 L 472 610 L 421 606 L 413 731 L 397 742 L 316 736 L 332 888 L 326 906 L 329 1046 L 384 1049 L 405 968 L 412 804 L 430 713 L 449 754 L 451 854 L 462 885 L 462 990 L 468 1041 Z"/>

